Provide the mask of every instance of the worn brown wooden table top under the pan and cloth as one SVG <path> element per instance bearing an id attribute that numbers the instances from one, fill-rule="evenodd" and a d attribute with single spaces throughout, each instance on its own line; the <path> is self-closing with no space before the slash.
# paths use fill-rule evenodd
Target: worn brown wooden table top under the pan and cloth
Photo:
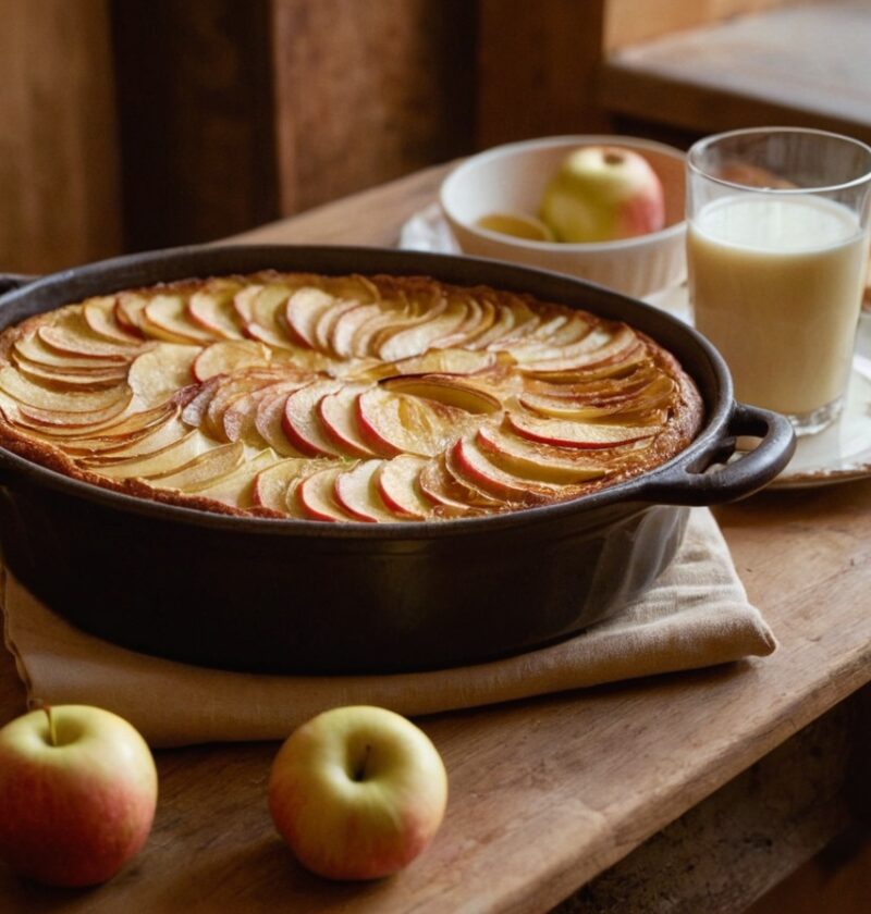
<path id="1" fill-rule="evenodd" d="M 420 172 L 236 240 L 393 246 L 443 173 Z M 871 679 L 871 480 L 763 493 L 716 516 L 778 650 L 419 721 L 443 754 L 451 800 L 433 844 L 398 876 L 363 886 L 309 876 L 266 808 L 277 744 L 197 746 L 157 753 L 155 830 L 111 882 L 49 890 L 0 867 L 0 909 L 548 910 Z M 3 655 L 0 722 L 22 709 Z"/>

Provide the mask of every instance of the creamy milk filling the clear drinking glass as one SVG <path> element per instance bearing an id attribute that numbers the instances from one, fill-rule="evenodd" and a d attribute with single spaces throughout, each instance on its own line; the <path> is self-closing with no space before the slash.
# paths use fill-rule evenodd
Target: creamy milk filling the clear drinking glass
<path id="1" fill-rule="evenodd" d="M 787 415 L 837 400 L 868 263 L 856 214 L 803 194 L 725 197 L 690 220 L 687 245 L 696 326 L 737 399 Z"/>

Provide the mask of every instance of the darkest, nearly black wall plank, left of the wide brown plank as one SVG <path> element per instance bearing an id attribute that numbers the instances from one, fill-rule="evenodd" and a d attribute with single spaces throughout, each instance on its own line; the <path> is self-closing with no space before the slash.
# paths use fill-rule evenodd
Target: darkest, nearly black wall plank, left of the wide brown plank
<path id="1" fill-rule="evenodd" d="M 269 0 L 114 3 L 126 247 L 279 215 Z"/>

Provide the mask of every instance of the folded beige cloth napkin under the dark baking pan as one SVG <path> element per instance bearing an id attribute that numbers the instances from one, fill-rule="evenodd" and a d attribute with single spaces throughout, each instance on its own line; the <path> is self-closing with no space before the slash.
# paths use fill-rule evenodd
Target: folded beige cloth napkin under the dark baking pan
<path id="1" fill-rule="evenodd" d="M 434 672 L 260 676 L 186 666 L 74 629 L 10 573 L 2 592 L 7 646 L 28 699 L 107 707 L 155 746 L 278 740 L 336 705 L 377 704 L 416 716 L 764 656 L 775 649 L 707 508 L 692 509 L 673 564 L 618 615 L 555 646 Z"/>

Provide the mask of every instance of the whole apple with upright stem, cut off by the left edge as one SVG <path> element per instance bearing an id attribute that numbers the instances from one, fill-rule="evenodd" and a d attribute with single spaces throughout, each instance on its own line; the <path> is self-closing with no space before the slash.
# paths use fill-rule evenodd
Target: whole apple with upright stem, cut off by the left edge
<path id="1" fill-rule="evenodd" d="M 156 803 L 148 745 L 111 712 L 59 705 L 0 730 L 0 857 L 24 877 L 105 882 L 145 844 Z"/>

